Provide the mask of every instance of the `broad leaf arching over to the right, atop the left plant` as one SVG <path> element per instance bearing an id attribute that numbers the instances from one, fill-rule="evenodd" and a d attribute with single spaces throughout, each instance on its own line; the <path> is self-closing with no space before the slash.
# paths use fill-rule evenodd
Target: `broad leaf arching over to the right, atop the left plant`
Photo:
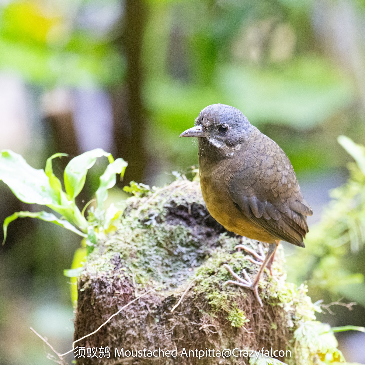
<path id="1" fill-rule="evenodd" d="M 101 148 L 96 148 L 74 157 L 68 163 L 64 172 L 64 182 L 66 193 L 70 199 L 74 199 L 80 193 L 84 187 L 88 170 L 94 165 L 96 159 L 101 156 L 107 157 L 110 163 L 114 161 L 110 153 Z"/>

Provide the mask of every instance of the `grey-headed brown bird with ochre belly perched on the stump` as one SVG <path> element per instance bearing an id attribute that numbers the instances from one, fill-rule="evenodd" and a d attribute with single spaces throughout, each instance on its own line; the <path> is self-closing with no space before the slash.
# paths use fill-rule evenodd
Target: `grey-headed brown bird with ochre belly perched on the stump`
<path id="1" fill-rule="evenodd" d="M 199 177 L 204 202 L 210 215 L 228 231 L 269 244 L 264 257 L 237 245 L 253 255 L 260 269 L 252 281 L 227 265 L 235 284 L 258 294 L 258 282 L 270 267 L 281 240 L 303 247 L 308 233 L 307 216 L 313 214 L 304 200 L 293 166 L 276 142 L 261 133 L 233 106 L 212 104 L 195 119 L 195 126 L 180 137 L 198 139 Z"/>

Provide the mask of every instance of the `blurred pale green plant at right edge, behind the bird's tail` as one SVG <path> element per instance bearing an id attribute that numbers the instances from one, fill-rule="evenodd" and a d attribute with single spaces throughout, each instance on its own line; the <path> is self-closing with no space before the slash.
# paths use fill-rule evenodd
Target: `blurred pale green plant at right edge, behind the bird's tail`
<path id="1" fill-rule="evenodd" d="M 365 147 L 346 136 L 339 136 L 338 142 L 356 162 L 348 165 L 350 177 L 346 184 L 330 192 L 331 202 L 321 221 L 306 237 L 307 249 L 291 257 L 291 274 L 297 276 L 297 282 L 308 280 L 311 289 L 341 294 L 365 305 L 364 277 L 351 271 L 343 259 L 345 256 L 352 261 L 365 247 Z M 303 260 L 306 266 L 301 265 Z M 298 267 L 303 269 L 298 271 Z M 350 290 L 350 285 L 357 289 Z"/>

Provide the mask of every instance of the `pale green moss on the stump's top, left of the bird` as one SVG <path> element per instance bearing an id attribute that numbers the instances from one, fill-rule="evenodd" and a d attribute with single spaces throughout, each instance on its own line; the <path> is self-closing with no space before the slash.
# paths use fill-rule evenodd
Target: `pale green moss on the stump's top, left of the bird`
<path id="1" fill-rule="evenodd" d="M 172 203 L 185 208 L 199 206 L 196 188 L 191 195 L 181 192 L 181 185 L 187 183 L 192 184 L 177 181 L 174 189 L 170 185 L 170 189 L 153 190 L 132 184 L 134 196 L 127 200 L 117 231 L 89 255 L 87 272 L 108 277 L 116 266 L 123 266 L 124 274 L 141 288 L 192 275 L 192 268 L 199 266 L 210 247 L 192 234 L 194 227 L 166 221 Z M 203 204 L 201 209 L 205 209 Z"/>

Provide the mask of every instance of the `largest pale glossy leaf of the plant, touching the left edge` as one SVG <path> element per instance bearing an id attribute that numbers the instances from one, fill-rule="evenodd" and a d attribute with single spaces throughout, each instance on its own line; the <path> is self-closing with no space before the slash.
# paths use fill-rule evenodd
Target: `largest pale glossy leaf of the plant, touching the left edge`
<path id="1" fill-rule="evenodd" d="M 0 151 L 0 180 L 24 203 L 58 204 L 46 173 L 32 168 L 21 155 L 11 150 Z"/>

